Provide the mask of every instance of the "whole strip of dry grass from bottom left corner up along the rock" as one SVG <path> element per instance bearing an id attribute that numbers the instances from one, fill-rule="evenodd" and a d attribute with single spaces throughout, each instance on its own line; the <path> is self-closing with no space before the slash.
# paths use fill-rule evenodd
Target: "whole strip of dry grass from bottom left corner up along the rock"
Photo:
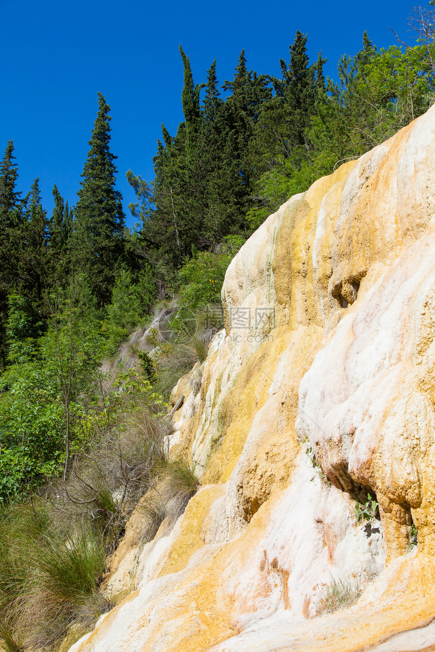
<path id="1" fill-rule="evenodd" d="M 8 652 L 55 649 L 71 627 L 91 629 L 112 608 L 98 592 L 106 557 L 140 497 L 151 496 L 141 508 L 145 543 L 164 520 L 172 527 L 198 490 L 192 466 L 168 461 L 166 425 L 140 414 L 131 426 L 79 456 L 46 496 L 3 510 L 0 638 Z"/>

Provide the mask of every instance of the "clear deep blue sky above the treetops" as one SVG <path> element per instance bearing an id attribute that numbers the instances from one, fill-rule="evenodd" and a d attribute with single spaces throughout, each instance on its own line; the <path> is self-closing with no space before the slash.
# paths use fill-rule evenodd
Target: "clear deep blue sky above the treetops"
<path id="1" fill-rule="evenodd" d="M 151 180 L 161 123 L 174 134 L 183 119 L 179 43 L 196 83 L 215 57 L 223 83 L 243 48 L 249 68 L 278 75 L 299 29 L 308 33 L 310 59 L 322 50 L 325 72 L 335 76 L 340 55 L 361 48 L 365 29 L 387 47 L 395 42 L 388 27 L 403 33 L 412 7 L 412 0 L 0 0 L 0 156 L 12 139 L 18 188 L 27 192 L 40 177 L 49 215 L 54 183 L 74 205 L 101 91 L 112 108 L 117 186 L 132 226 L 125 173 Z"/>

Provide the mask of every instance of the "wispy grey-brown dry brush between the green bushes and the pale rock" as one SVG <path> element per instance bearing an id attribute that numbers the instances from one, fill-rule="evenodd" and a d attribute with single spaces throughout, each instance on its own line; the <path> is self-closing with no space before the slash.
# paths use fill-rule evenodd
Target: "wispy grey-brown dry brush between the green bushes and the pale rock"
<path id="1" fill-rule="evenodd" d="M 62 520 L 90 522 L 112 553 L 141 497 L 155 483 L 168 454 L 172 426 L 147 410 L 117 421 L 76 456 L 67 482 L 52 488 L 51 499 Z"/>

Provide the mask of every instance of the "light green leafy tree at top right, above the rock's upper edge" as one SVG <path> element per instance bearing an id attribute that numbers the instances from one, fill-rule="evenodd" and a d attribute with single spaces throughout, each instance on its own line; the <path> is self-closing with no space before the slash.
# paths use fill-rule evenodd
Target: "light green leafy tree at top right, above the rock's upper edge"
<path id="1" fill-rule="evenodd" d="M 432 104 L 433 70 L 423 46 L 376 52 L 367 38 L 355 57 L 340 59 L 338 78 L 338 84 L 329 80 L 329 97 L 313 121 L 316 147 L 337 161 L 379 145 Z"/>

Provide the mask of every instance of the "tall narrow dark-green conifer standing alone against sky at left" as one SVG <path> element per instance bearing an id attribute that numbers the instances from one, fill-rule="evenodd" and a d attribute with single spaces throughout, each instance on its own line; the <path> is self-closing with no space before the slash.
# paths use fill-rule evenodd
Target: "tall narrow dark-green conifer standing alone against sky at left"
<path id="1" fill-rule="evenodd" d="M 110 151 L 110 106 L 98 93 L 98 113 L 83 167 L 82 188 L 75 210 L 72 265 L 85 274 L 102 306 L 112 294 L 124 254 L 124 220 L 121 193 L 115 190 L 117 156 Z"/>

